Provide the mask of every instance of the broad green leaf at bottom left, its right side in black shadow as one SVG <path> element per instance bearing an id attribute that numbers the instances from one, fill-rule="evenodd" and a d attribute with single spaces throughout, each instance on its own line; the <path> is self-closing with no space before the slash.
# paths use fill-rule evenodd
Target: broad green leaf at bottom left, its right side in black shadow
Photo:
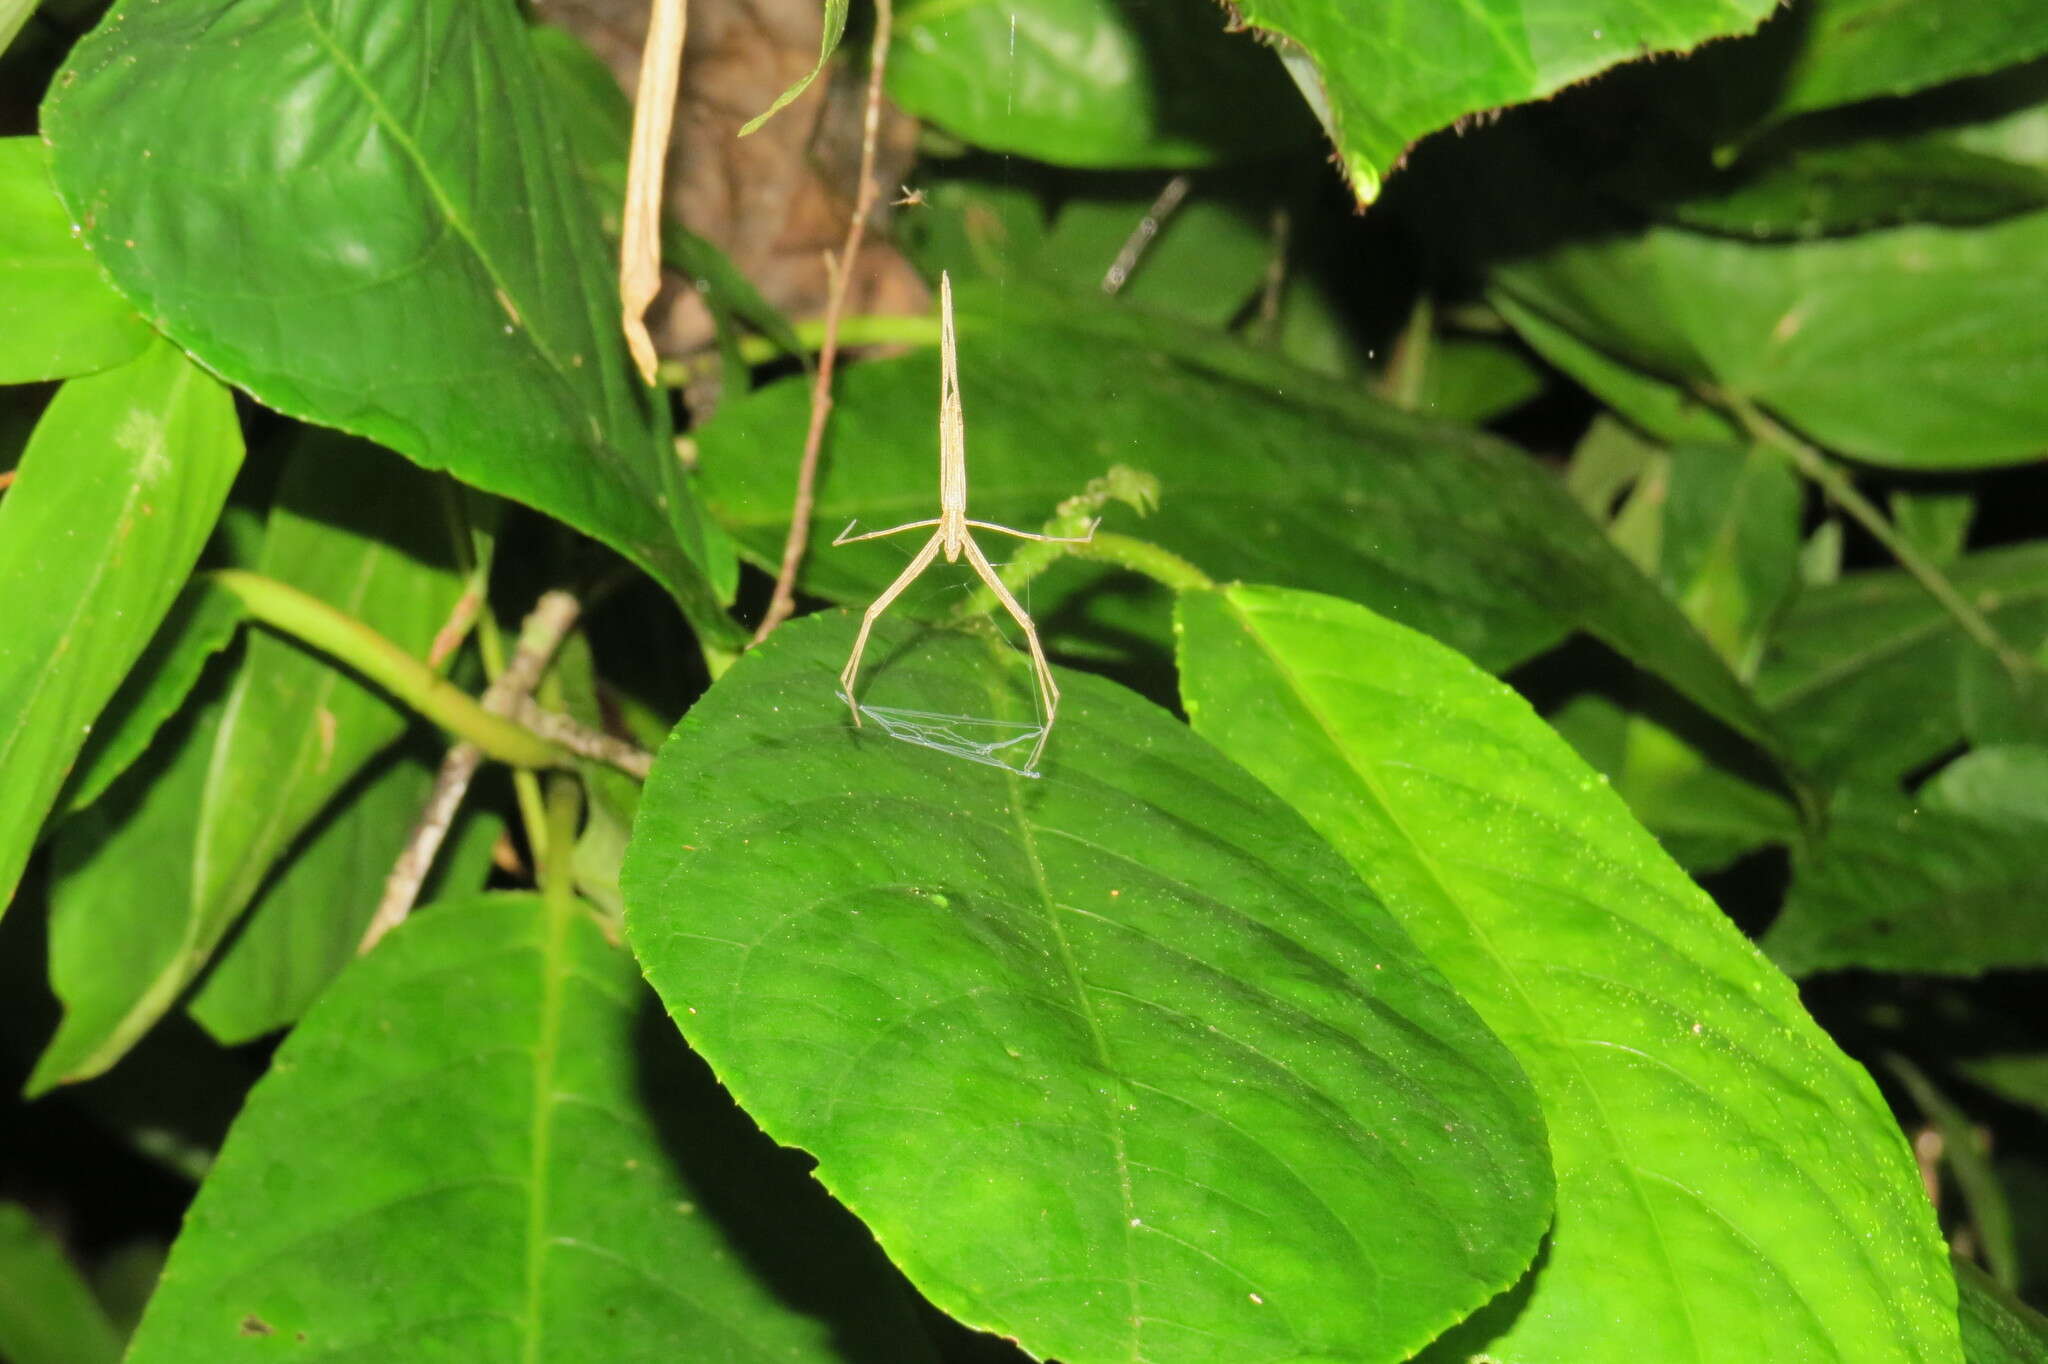
<path id="1" fill-rule="evenodd" d="M 834 1264 L 854 1260 L 842 1227 L 793 1219 L 813 1272 L 870 1298 L 838 1323 L 844 1346 L 752 1272 L 748 1229 L 707 1208 L 733 1174 L 707 1114 L 680 1108 L 674 1036 L 641 1026 L 643 1004 L 575 905 L 414 915 L 250 1094 L 129 1360 L 926 1358 L 887 1280 Z"/>

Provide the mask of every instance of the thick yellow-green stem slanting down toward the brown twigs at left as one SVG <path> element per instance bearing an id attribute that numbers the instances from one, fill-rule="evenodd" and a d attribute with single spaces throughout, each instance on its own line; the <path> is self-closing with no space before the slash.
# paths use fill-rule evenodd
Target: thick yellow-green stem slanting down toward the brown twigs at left
<path id="1" fill-rule="evenodd" d="M 502 715 L 492 715 L 463 688 L 317 596 L 244 569 L 215 569 L 213 582 L 242 602 L 252 619 L 348 664 L 449 733 L 475 743 L 485 756 L 516 768 L 553 768 L 571 762 L 567 750 Z"/>

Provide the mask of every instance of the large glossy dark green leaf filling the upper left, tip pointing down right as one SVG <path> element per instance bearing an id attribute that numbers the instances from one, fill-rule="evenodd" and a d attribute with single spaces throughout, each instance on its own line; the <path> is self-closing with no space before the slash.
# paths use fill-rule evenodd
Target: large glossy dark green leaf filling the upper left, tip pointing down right
<path id="1" fill-rule="evenodd" d="M 123 0 L 53 90 L 57 186 L 156 326 L 281 412 L 598 537 L 717 621 L 729 549 L 627 363 L 516 8 Z"/>

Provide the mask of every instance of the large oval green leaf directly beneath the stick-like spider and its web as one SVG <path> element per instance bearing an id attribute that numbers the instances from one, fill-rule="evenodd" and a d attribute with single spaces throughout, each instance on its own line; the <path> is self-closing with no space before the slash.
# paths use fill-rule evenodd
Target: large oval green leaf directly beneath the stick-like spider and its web
<path id="1" fill-rule="evenodd" d="M 1528 1088 L 1346 866 L 1085 674 L 1042 780 L 856 731 L 854 623 L 682 719 L 625 866 L 678 1026 L 938 1307 L 1036 1356 L 1403 1360 L 1528 1264 Z M 862 696 L 1018 721 L 885 619 Z"/>

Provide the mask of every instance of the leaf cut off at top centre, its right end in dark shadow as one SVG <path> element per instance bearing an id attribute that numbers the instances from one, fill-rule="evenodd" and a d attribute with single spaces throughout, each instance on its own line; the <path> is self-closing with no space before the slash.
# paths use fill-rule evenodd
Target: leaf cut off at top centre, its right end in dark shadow
<path id="1" fill-rule="evenodd" d="M 1307 141 L 1274 55 L 1182 0 L 911 0 L 889 98 L 997 152 L 1061 166 L 1202 166 Z M 1292 117 L 1290 117 L 1292 115 Z"/>

